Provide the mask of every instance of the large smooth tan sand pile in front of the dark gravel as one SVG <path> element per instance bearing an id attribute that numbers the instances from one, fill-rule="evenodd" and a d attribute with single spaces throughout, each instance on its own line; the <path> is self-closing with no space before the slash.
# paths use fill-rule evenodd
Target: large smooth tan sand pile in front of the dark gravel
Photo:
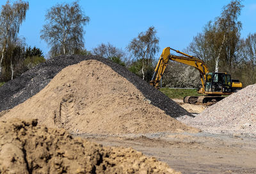
<path id="1" fill-rule="evenodd" d="M 176 105 L 172 109 L 182 111 Z M 166 115 L 134 84 L 95 59 L 61 70 L 43 90 L 0 119 L 10 118 L 37 118 L 40 124 L 76 134 L 198 132 Z"/>

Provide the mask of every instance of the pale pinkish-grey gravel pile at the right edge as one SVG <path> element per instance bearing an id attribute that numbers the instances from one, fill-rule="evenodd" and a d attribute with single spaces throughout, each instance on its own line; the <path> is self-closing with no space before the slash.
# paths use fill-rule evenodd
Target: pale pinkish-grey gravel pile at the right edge
<path id="1" fill-rule="evenodd" d="M 212 134 L 256 136 L 256 84 L 246 86 L 205 109 L 195 118 L 178 118 Z"/>

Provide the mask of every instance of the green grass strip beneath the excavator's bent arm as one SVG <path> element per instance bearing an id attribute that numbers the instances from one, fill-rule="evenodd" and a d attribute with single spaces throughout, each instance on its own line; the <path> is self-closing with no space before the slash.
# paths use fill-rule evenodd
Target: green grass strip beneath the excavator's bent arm
<path id="1" fill-rule="evenodd" d="M 190 96 L 201 96 L 202 94 L 197 93 L 196 89 L 173 89 L 173 88 L 160 88 L 161 92 L 170 97 L 171 99 L 183 99 L 184 97 Z"/>

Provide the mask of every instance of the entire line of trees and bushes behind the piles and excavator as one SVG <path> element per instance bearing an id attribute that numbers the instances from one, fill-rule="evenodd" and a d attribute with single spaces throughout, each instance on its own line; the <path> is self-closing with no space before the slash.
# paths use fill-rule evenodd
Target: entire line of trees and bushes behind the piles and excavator
<path id="1" fill-rule="evenodd" d="M 210 20 L 204 30 L 193 38 L 193 42 L 183 51 L 203 59 L 211 72 L 227 72 L 232 79 L 239 79 L 244 86 L 256 83 L 256 33 L 241 38 L 242 22 L 238 17 L 243 8 L 241 1 L 230 1 L 219 17 Z M 15 9 L 19 9 L 16 10 Z M 1 81 L 8 81 L 25 70 L 45 61 L 40 49 L 26 47 L 18 38 L 19 26 L 25 20 L 28 3 L 17 1 L 12 5 L 7 1 L 2 6 L 0 20 L 1 36 Z M 65 16 L 65 18 L 63 17 Z M 51 47 L 51 57 L 60 54 L 94 54 L 115 61 L 150 81 L 158 61 L 159 38 L 157 30 L 151 26 L 119 49 L 111 43 L 101 43 L 92 51 L 84 49 L 84 26 L 90 22 L 77 2 L 56 4 L 45 14 L 45 25 L 40 38 Z M 9 26 L 5 24 L 10 24 Z M 166 47 L 175 45 L 166 45 Z M 29 54 L 35 51 L 38 54 Z M 170 62 L 163 75 L 163 86 L 200 86 L 199 73 L 193 67 Z"/>

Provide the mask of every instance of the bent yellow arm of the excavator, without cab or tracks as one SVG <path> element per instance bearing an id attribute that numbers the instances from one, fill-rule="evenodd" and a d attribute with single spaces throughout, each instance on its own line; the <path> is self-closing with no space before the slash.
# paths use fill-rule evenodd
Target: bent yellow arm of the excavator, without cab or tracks
<path id="1" fill-rule="evenodd" d="M 170 54 L 170 50 L 175 51 L 179 54 L 182 54 L 183 56 L 176 56 L 176 55 Z M 204 93 L 206 74 L 209 73 L 209 69 L 205 65 L 204 61 L 202 61 L 201 59 L 195 58 L 193 56 L 189 56 L 184 52 L 180 52 L 170 47 L 164 48 L 159 58 L 154 75 L 152 77 L 152 80 L 150 81 L 150 84 L 152 86 L 155 86 L 156 88 L 159 86 L 159 82 L 163 77 L 164 70 L 166 69 L 166 66 L 169 60 L 177 61 L 179 63 L 183 63 L 185 65 L 195 67 L 200 72 L 200 78 L 202 82 L 202 88 L 200 89 L 199 93 Z"/>

